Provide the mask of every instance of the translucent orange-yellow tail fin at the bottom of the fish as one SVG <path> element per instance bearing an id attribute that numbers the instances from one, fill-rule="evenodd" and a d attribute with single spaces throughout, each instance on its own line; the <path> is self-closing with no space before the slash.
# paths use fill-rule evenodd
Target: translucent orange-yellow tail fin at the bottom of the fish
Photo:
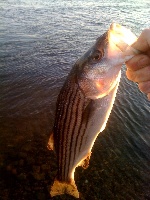
<path id="1" fill-rule="evenodd" d="M 53 186 L 51 187 L 50 195 L 51 197 L 53 197 L 62 194 L 69 194 L 76 198 L 79 198 L 79 192 L 75 182 L 66 183 L 55 180 Z"/>

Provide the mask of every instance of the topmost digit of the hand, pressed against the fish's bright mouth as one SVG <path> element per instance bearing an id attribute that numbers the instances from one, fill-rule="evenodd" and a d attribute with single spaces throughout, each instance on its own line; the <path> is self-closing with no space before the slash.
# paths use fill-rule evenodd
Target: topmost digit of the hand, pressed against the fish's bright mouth
<path id="1" fill-rule="evenodd" d="M 142 52 L 147 52 L 150 49 L 150 29 L 142 31 L 138 40 L 132 45 L 133 48 Z"/>

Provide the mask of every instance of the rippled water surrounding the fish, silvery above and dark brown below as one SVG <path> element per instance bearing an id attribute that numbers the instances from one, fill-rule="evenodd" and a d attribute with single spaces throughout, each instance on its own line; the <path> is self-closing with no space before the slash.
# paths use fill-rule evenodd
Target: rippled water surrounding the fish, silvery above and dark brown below
<path id="1" fill-rule="evenodd" d="M 56 160 L 46 145 L 59 90 L 112 22 L 137 36 L 150 27 L 149 0 L 2 0 L 0 13 L 0 197 L 50 199 Z M 90 167 L 75 180 L 81 199 L 150 198 L 150 103 L 125 66 Z"/>

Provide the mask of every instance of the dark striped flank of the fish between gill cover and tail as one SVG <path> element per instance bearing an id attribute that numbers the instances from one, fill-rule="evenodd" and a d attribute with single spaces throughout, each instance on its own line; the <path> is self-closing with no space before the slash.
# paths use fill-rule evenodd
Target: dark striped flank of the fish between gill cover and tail
<path id="1" fill-rule="evenodd" d="M 83 143 L 89 118 L 89 111 L 84 112 L 84 107 L 85 96 L 78 85 L 74 84 L 72 87 L 68 82 L 58 97 L 56 126 L 54 126 L 56 143 L 59 144 L 57 145 L 58 178 L 62 181 L 69 181 L 69 173 Z"/>

